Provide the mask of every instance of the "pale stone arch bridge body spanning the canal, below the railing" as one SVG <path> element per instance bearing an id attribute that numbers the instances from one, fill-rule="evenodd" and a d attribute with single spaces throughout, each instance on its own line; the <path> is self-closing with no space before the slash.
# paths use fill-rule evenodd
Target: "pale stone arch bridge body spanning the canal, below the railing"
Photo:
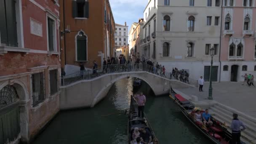
<path id="1" fill-rule="evenodd" d="M 147 71 L 114 72 L 95 77 L 91 80 L 80 80 L 75 83 L 61 86 L 60 108 L 75 109 L 94 107 L 103 99 L 111 86 L 120 79 L 136 77 L 145 81 L 156 96 L 169 93 L 170 88 L 191 88 L 193 85 L 178 80 L 169 80 L 165 77 Z"/>

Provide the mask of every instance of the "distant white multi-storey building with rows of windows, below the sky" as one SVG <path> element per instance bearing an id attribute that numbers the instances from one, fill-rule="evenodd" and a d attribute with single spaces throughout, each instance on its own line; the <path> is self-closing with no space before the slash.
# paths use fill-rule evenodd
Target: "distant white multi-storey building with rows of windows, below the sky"
<path id="1" fill-rule="evenodd" d="M 115 46 L 116 48 L 128 45 L 128 26 L 115 24 Z"/>

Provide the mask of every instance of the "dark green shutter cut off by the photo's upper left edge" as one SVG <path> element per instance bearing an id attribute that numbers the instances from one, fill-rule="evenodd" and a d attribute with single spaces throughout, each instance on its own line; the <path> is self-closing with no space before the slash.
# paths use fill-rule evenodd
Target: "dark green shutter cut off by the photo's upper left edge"
<path id="1" fill-rule="evenodd" d="M 5 16 L 5 0 L 0 0 L 0 43 L 8 44 L 6 16 Z M 1 142 L 1 141 L 0 141 Z"/>

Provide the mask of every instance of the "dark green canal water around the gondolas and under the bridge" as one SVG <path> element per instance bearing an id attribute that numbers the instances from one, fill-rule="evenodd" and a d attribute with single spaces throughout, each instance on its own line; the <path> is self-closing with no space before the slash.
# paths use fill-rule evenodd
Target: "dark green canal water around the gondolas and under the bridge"
<path id="1" fill-rule="evenodd" d="M 168 95 L 155 97 L 146 83 L 137 90 L 132 83 L 132 78 L 117 81 L 94 108 L 60 112 L 33 144 L 128 144 L 128 116 L 123 109 L 130 107 L 131 94 L 139 91 L 146 95 L 145 113 L 159 144 L 211 144 Z"/>

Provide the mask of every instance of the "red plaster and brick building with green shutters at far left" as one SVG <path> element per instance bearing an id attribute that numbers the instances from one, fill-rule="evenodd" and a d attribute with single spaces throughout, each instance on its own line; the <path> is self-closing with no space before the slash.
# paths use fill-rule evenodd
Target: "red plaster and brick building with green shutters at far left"
<path id="1" fill-rule="evenodd" d="M 0 144 L 29 143 L 59 112 L 59 0 L 0 0 Z"/>

